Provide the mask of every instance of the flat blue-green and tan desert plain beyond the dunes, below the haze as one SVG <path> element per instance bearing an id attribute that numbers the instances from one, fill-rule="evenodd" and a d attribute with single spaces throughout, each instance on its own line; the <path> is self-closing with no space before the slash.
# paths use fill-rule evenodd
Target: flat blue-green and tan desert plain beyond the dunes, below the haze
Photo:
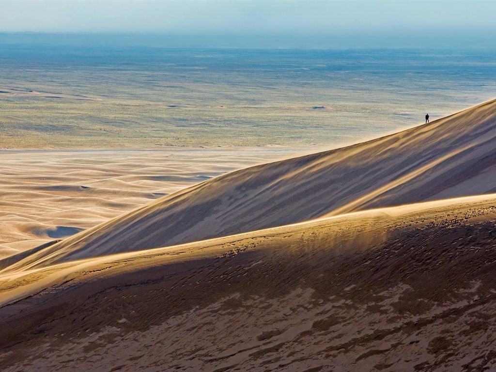
<path id="1" fill-rule="evenodd" d="M 0 148 L 301 146 L 493 98 L 496 54 L 2 45 Z M 97 43 L 98 44 L 98 43 Z M 435 82 L 435 84 L 434 84 Z"/>

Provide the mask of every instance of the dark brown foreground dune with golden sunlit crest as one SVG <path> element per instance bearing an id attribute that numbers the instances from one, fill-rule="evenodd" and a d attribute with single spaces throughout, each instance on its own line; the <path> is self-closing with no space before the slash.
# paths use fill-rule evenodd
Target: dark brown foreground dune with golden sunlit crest
<path id="1" fill-rule="evenodd" d="M 492 371 L 495 197 L 2 275 L 0 370 Z"/>

